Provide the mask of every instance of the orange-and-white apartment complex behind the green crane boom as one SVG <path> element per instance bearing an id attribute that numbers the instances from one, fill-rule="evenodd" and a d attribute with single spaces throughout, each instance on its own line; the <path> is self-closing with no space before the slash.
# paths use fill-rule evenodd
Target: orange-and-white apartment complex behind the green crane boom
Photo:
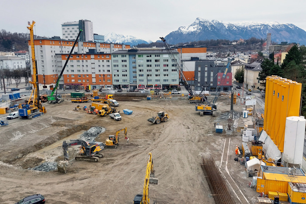
<path id="1" fill-rule="evenodd" d="M 74 40 L 64 40 L 60 39 L 58 36 L 34 40 L 35 58 L 37 61 L 38 79 L 40 86 L 39 88 L 53 89 L 58 75 L 62 71 L 62 68 L 67 59 L 66 56 L 68 57 L 70 50 L 72 49 L 73 43 Z M 28 45 L 29 50 L 31 50 L 30 41 L 28 41 Z M 69 61 L 67 64 L 68 66 L 66 67 L 69 72 L 67 72 L 67 70 L 64 71 L 65 75 L 60 80 L 59 88 L 65 87 L 73 89 L 74 87 L 90 87 L 92 89 L 93 87 L 101 87 L 100 85 L 102 84 L 103 86 L 105 85 L 105 87 L 112 87 L 112 79 L 110 78 L 110 53 L 112 50 L 129 48 L 129 45 L 116 43 L 98 43 L 86 41 L 77 42 L 72 52 L 73 55 L 71 56 L 71 61 Z M 31 55 L 32 53 L 30 52 L 30 58 L 32 58 Z M 100 62 L 98 62 L 99 60 Z M 102 60 L 104 60 L 104 62 Z M 84 65 L 84 67 L 82 65 Z M 102 68 L 105 68 L 104 72 Z M 81 71 L 78 72 L 78 70 Z M 88 72 L 86 70 L 88 70 Z M 107 70 L 109 70 L 109 72 Z M 72 74 L 75 76 L 74 79 L 72 79 L 71 73 L 76 73 Z M 84 77 L 83 74 L 85 75 Z M 105 83 L 102 83 L 103 81 L 101 77 L 103 74 Z M 69 81 L 67 75 L 69 75 Z M 81 75 L 81 77 L 79 77 L 79 75 Z M 99 75 L 101 75 L 101 77 Z M 110 75 L 110 77 L 107 77 L 108 75 Z"/>

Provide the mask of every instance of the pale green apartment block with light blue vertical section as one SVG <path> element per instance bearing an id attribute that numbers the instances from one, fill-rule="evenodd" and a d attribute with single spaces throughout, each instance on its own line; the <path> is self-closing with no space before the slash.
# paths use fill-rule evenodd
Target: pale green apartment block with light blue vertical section
<path id="1" fill-rule="evenodd" d="M 178 60 L 178 52 L 173 51 Z M 168 89 L 179 86 L 179 75 L 166 50 L 118 50 L 112 56 L 114 87 Z"/>

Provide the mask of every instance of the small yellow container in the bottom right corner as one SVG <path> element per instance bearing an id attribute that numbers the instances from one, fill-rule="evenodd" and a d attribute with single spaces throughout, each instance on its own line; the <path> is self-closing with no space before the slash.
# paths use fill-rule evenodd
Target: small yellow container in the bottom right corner
<path id="1" fill-rule="evenodd" d="M 288 183 L 290 203 L 306 203 L 306 184 Z"/>

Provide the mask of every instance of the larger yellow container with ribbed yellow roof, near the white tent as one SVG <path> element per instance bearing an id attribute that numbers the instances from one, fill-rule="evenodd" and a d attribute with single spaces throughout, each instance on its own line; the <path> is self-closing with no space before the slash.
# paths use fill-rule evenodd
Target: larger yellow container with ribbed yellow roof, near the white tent
<path id="1" fill-rule="evenodd" d="M 256 191 L 266 195 L 269 191 L 287 193 L 289 182 L 306 184 L 306 176 L 263 172 L 263 177 L 257 178 Z"/>

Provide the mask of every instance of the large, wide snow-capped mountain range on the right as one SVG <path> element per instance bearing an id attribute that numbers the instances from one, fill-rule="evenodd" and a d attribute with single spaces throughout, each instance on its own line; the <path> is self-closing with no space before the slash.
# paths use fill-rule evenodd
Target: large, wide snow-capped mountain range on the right
<path id="1" fill-rule="evenodd" d="M 179 27 L 166 35 L 168 43 L 184 43 L 209 39 L 249 39 L 251 37 L 267 38 L 271 33 L 271 40 L 277 43 L 287 41 L 306 45 L 306 32 L 293 24 L 280 24 L 278 22 L 249 22 L 226 23 L 218 20 L 196 18 L 187 27 Z"/>

